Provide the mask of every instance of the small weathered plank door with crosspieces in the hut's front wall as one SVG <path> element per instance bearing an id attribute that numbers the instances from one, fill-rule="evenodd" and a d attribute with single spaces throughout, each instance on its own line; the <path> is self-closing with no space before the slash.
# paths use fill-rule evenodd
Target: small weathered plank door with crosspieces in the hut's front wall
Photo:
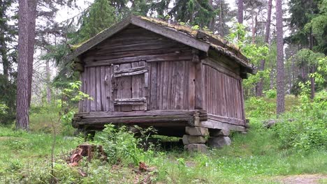
<path id="1" fill-rule="evenodd" d="M 116 112 L 147 110 L 149 70 L 145 61 L 122 63 L 113 66 L 112 102 Z"/>

